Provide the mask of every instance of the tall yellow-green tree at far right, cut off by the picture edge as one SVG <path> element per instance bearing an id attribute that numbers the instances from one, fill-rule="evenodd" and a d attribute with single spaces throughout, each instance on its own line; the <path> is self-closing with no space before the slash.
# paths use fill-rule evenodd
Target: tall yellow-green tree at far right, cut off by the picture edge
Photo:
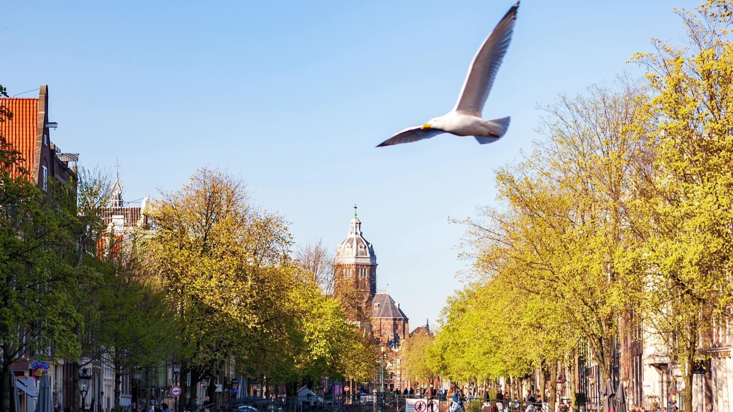
<path id="1" fill-rule="evenodd" d="M 647 322 L 668 342 L 692 411 L 693 361 L 714 320 L 731 316 L 733 258 L 733 2 L 708 0 L 677 10 L 685 46 L 653 39 L 647 68 L 652 94 L 638 116 L 654 144 L 654 168 L 641 183 L 646 242 L 640 249 L 649 287 Z"/>

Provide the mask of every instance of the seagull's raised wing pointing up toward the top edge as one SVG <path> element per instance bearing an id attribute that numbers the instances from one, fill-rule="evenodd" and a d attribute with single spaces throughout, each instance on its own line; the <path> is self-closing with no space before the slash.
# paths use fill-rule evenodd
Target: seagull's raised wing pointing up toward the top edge
<path id="1" fill-rule="evenodd" d="M 504 18 L 496 25 L 494 31 L 484 40 L 479 51 L 476 52 L 471 66 L 468 67 L 468 75 L 465 76 L 463 88 L 460 90 L 458 101 L 453 110 L 481 117 L 496 72 L 499 70 L 501 60 L 504 59 L 504 54 L 507 54 L 509 42 L 512 40 L 512 31 L 514 30 L 514 22 L 517 20 L 518 8 L 519 1 L 509 9 Z"/>

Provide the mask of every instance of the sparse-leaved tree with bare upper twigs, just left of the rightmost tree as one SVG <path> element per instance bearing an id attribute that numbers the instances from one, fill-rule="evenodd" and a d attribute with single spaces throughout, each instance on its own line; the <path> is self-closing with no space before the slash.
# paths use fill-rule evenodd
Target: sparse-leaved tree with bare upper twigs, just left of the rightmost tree
<path id="1" fill-rule="evenodd" d="M 626 251 L 639 242 L 628 222 L 636 176 L 647 167 L 632 128 L 643 94 L 622 86 L 591 87 L 548 108 L 546 138 L 523 163 L 498 169 L 505 210 L 482 209 L 488 224 L 468 221 L 464 254 L 479 279 L 501 279 L 525 304 L 562 313 L 589 342 L 604 380 L 620 314 L 642 287 Z"/>

